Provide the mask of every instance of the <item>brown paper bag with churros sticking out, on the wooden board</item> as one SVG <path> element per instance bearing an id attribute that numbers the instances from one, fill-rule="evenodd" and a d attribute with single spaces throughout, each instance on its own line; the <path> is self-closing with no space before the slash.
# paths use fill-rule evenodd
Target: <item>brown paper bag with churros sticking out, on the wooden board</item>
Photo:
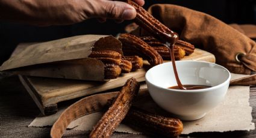
<path id="1" fill-rule="evenodd" d="M 104 64 L 88 58 L 92 49 L 123 54 L 122 44 L 111 35 L 78 35 L 22 48 L 1 65 L 0 71 L 25 76 L 104 81 Z"/>

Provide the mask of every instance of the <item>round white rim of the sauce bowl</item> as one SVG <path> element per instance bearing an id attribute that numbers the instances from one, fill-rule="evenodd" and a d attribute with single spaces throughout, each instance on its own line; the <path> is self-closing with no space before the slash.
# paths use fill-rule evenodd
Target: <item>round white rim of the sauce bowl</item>
<path id="1" fill-rule="evenodd" d="M 169 64 L 169 63 L 170 63 L 170 62 L 165 62 L 165 63 L 163 63 L 163 64 L 156 65 L 155 67 L 152 67 L 152 68 L 150 68 L 148 71 L 146 71 L 146 74 L 145 74 L 146 83 L 150 83 L 152 86 L 155 86 L 155 87 L 160 88 L 160 89 L 165 89 L 166 91 L 169 91 L 169 92 L 184 92 L 184 93 L 190 92 L 190 93 L 191 93 L 191 92 L 207 92 L 207 91 L 211 91 L 211 90 L 220 88 L 220 87 L 226 85 L 226 83 L 229 83 L 229 81 L 230 81 L 230 79 L 231 79 L 231 74 L 230 74 L 230 72 L 228 71 L 228 69 L 226 69 L 226 68 L 223 67 L 222 65 L 219 65 L 219 64 L 216 64 L 216 63 L 207 62 L 207 61 L 175 61 L 175 62 L 202 62 L 202 63 L 217 65 L 217 66 L 219 66 L 219 67 L 221 67 L 221 68 L 223 68 L 224 70 L 227 71 L 227 73 L 228 73 L 228 79 L 226 79 L 225 82 L 222 82 L 222 83 L 220 83 L 219 85 L 212 86 L 212 87 L 210 87 L 210 88 L 205 88 L 205 89 L 181 90 L 181 89 L 169 89 L 169 88 L 164 88 L 164 87 L 161 87 L 161 86 L 154 85 L 153 83 L 151 83 L 151 82 L 148 80 L 149 71 L 150 71 L 152 68 L 155 68 L 155 67 L 158 67 L 158 66 L 161 66 L 161 65 Z"/>

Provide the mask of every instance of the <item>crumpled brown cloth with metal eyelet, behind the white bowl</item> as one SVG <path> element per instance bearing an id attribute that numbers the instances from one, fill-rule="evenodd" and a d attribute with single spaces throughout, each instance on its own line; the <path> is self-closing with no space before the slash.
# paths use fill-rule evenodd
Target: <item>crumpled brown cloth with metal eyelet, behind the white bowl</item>
<path id="1" fill-rule="evenodd" d="M 216 63 L 239 74 L 256 71 L 256 43 L 222 21 L 199 11 L 170 4 L 155 4 L 149 13 L 173 31 L 181 40 L 216 56 Z M 140 35 L 146 35 L 141 31 Z M 237 57 L 237 59 L 236 59 Z"/>

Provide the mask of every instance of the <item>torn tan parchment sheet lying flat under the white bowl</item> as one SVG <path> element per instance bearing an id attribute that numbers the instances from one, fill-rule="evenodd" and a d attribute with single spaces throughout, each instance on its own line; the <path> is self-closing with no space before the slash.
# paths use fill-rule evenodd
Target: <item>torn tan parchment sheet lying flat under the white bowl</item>
<path id="1" fill-rule="evenodd" d="M 231 74 L 231 80 L 243 77 L 241 74 Z M 145 87 L 145 86 L 142 86 Z M 145 98 L 146 99 L 146 98 Z M 161 110 L 154 101 L 142 99 L 143 109 L 150 110 L 151 112 L 157 112 Z M 142 105 L 137 103 L 137 105 Z M 51 116 L 40 117 L 34 119 L 28 127 L 43 127 L 46 125 L 53 125 L 60 116 L 60 109 L 58 113 Z M 196 121 L 183 121 L 184 130 L 182 134 L 190 134 L 193 132 L 224 132 L 235 130 L 254 130 L 255 125 L 252 122 L 252 107 L 249 106 L 249 86 L 229 86 L 225 100 L 219 104 L 216 108 L 211 110 L 204 116 L 204 118 Z M 83 116 L 81 118 L 72 121 L 68 128 L 73 130 L 88 131 L 92 130 L 93 125 L 101 118 L 102 112 L 92 113 L 90 115 Z M 121 124 L 115 131 L 141 134 L 143 131 L 136 130 Z"/>

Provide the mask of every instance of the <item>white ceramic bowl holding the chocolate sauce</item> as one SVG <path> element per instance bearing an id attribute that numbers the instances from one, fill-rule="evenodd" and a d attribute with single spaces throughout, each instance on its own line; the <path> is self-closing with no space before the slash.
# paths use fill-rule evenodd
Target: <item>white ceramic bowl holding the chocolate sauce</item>
<path id="1" fill-rule="evenodd" d="M 176 68 L 183 85 L 207 85 L 211 88 L 168 89 L 177 85 L 172 63 L 152 67 L 146 73 L 146 84 L 155 103 L 164 110 L 177 118 L 191 121 L 202 118 L 224 99 L 231 77 L 226 68 L 204 61 L 176 61 Z"/>

